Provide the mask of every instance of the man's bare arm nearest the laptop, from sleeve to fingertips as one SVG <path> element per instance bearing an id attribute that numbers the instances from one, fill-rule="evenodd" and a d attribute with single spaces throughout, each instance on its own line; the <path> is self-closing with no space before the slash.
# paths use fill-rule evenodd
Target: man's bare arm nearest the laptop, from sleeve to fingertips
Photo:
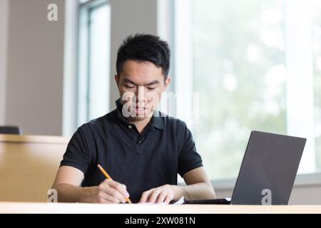
<path id="1" fill-rule="evenodd" d="M 190 170 L 183 175 L 186 186 L 163 185 L 143 192 L 140 202 L 165 202 L 185 199 L 215 199 L 215 191 L 203 167 Z"/>

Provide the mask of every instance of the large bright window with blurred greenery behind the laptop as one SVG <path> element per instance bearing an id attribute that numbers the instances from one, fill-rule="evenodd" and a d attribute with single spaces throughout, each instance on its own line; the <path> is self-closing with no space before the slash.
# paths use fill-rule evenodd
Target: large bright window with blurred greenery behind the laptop
<path id="1" fill-rule="evenodd" d="M 175 90 L 199 94 L 189 127 L 211 179 L 237 177 L 251 130 L 307 138 L 299 173 L 320 171 L 321 2 L 174 4 Z"/>

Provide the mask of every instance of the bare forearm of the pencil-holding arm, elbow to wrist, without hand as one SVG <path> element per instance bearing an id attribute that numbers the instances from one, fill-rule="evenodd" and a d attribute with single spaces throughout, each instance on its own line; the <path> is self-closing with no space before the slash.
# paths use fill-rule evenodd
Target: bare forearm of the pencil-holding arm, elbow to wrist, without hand
<path id="1" fill-rule="evenodd" d="M 69 184 L 54 185 L 58 193 L 58 202 L 91 202 L 96 187 L 77 187 Z"/>

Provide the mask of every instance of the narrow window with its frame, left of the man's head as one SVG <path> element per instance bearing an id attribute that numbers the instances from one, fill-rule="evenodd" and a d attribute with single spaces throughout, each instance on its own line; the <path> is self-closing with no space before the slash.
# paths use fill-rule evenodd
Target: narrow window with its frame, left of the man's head
<path id="1" fill-rule="evenodd" d="M 81 1 L 77 125 L 108 112 L 110 14 L 107 1 Z"/>

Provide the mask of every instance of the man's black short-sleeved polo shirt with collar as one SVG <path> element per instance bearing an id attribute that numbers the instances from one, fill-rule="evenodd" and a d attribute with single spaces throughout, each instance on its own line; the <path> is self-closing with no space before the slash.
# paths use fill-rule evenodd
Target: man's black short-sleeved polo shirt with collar
<path id="1" fill-rule="evenodd" d="M 126 185 L 133 202 L 161 185 L 177 185 L 177 174 L 201 167 L 195 142 L 181 120 L 156 111 L 140 134 L 117 108 L 81 125 L 68 143 L 61 166 L 76 167 L 84 174 L 82 187 L 99 185 L 106 177 L 100 164 L 117 182 Z M 158 115 L 156 115 L 158 114 Z"/>

